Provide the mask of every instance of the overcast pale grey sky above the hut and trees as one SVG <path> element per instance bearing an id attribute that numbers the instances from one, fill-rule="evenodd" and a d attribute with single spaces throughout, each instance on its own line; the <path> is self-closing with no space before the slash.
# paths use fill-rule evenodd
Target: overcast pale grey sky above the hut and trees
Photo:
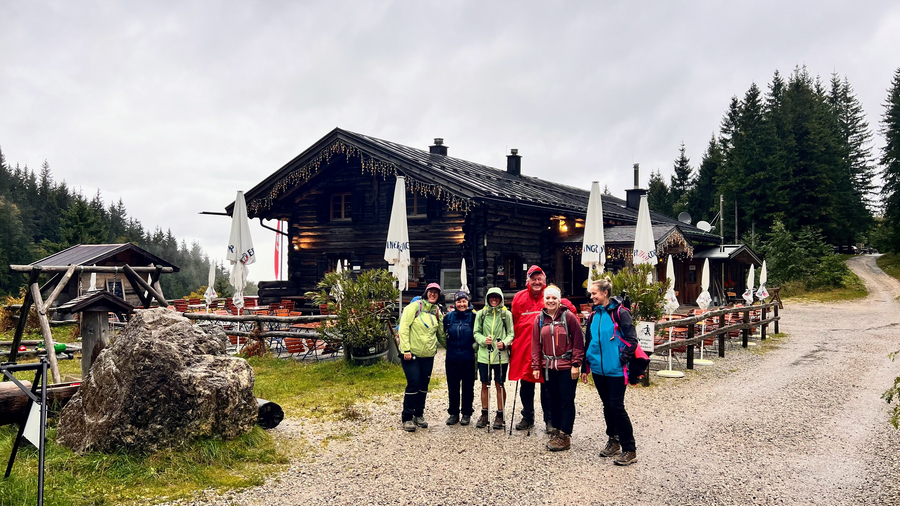
<path id="1" fill-rule="evenodd" d="M 798 65 L 846 76 L 880 147 L 900 3 L 0 0 L 0 148 L 221 262 L 229 219 L 197 213 L 334 127 L 623 197 Z"/>

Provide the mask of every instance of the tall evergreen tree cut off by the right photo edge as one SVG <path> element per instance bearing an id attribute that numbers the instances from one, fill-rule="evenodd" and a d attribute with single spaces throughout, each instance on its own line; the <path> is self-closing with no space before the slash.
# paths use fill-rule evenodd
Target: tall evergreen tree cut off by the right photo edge
<path id="1" fill-rule="evenodd" d="M 900 251 L 900 68 L 894 72 L 888 97 L 881 115 L 881 168 L 884 187 L 881 196 L 884 205 L 885 224 L 888 226 L 888 242 L 893 251 Z"/>

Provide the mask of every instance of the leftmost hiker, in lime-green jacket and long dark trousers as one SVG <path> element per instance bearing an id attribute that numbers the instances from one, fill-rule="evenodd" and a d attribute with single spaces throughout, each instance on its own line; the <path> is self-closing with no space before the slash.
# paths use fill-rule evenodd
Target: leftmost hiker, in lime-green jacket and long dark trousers
<path id="1" fill-rule="evenodd" d="M 417 427 L 428 428 L 425 397 L 431 382 L 438 337 L 443 339 L 444 331 L 443 315 L 438 306 L 440 297 L 441 285 L 431 283 L 425 288 L 422 300 L 406 306 L 400 317 L 400 353 L 406 375 L 401 421 L 407 432 L 415 432 Z"/>

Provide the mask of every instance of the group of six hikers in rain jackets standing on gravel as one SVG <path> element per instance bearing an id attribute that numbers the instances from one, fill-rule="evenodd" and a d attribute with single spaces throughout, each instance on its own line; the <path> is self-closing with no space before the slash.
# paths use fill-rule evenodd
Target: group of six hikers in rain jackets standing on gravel
<path id="1" fill-rule="evenodd" d="M 619 297 L 612 296 L 608 278 L 589 286 L 592 311 L 585 330 L 571 302 L 560 289 L 547 285 L 544 271 L 532 265 L 527 287 L 505 306 L 499 288 L 488 290 L 484 308 L 475 311 L 469 295 L 455 295 L 454 310 L 440 310 L 441 287 L 431 283 L 421 299 L 403 309 L 400 317 L 400 353 L 406 375 L 401 422 L 414 432 L 427 428 L 425 399 L 440 341 L 446 348 L 449 406 L 447 425 L 469 425 L 474 411 L 475 372 L 481 381 L 481 415 L 478 428 L 506 428 L 504 384 L 509 375 L 516 381 L 522 405 L 516 430 L 531 430 L 535 422 L 534 398 L 540 387 L 545 432 L 550 435 L 550 451 L 571 447 L 575 424 L 575 392 L 580 379 L 588 375 L 603 403 L 606 447 L 602 457 L 627 466 L 637 461 L 631 420 L 625 411 L 628 384 L 627 363 L 637 349 L 637 335 L 631 313 Z M 489 419 L 491 383 L 496 390 L 496 413 Z M 513 402 L 515 403 L 515 396 Z M 515 411 L 515 408 L 513 408 Z"/>

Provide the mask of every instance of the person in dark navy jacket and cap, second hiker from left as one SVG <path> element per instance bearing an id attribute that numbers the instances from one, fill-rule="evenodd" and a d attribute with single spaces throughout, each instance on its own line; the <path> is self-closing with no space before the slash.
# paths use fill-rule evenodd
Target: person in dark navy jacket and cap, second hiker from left
<path id="1" fill-rule="evenodd" d="M 444 317 L 444 335 L 447 336 L 447 425 L 469 425 L 472 420 L 472 403 L 475 398 L 475 311 L 469 304 L 469 294 L 456 293 L 456 310 Z M 462 393 L 462 404 L 460 404 Z M 462 412 L 462 419 L 459 414 Z"/>

